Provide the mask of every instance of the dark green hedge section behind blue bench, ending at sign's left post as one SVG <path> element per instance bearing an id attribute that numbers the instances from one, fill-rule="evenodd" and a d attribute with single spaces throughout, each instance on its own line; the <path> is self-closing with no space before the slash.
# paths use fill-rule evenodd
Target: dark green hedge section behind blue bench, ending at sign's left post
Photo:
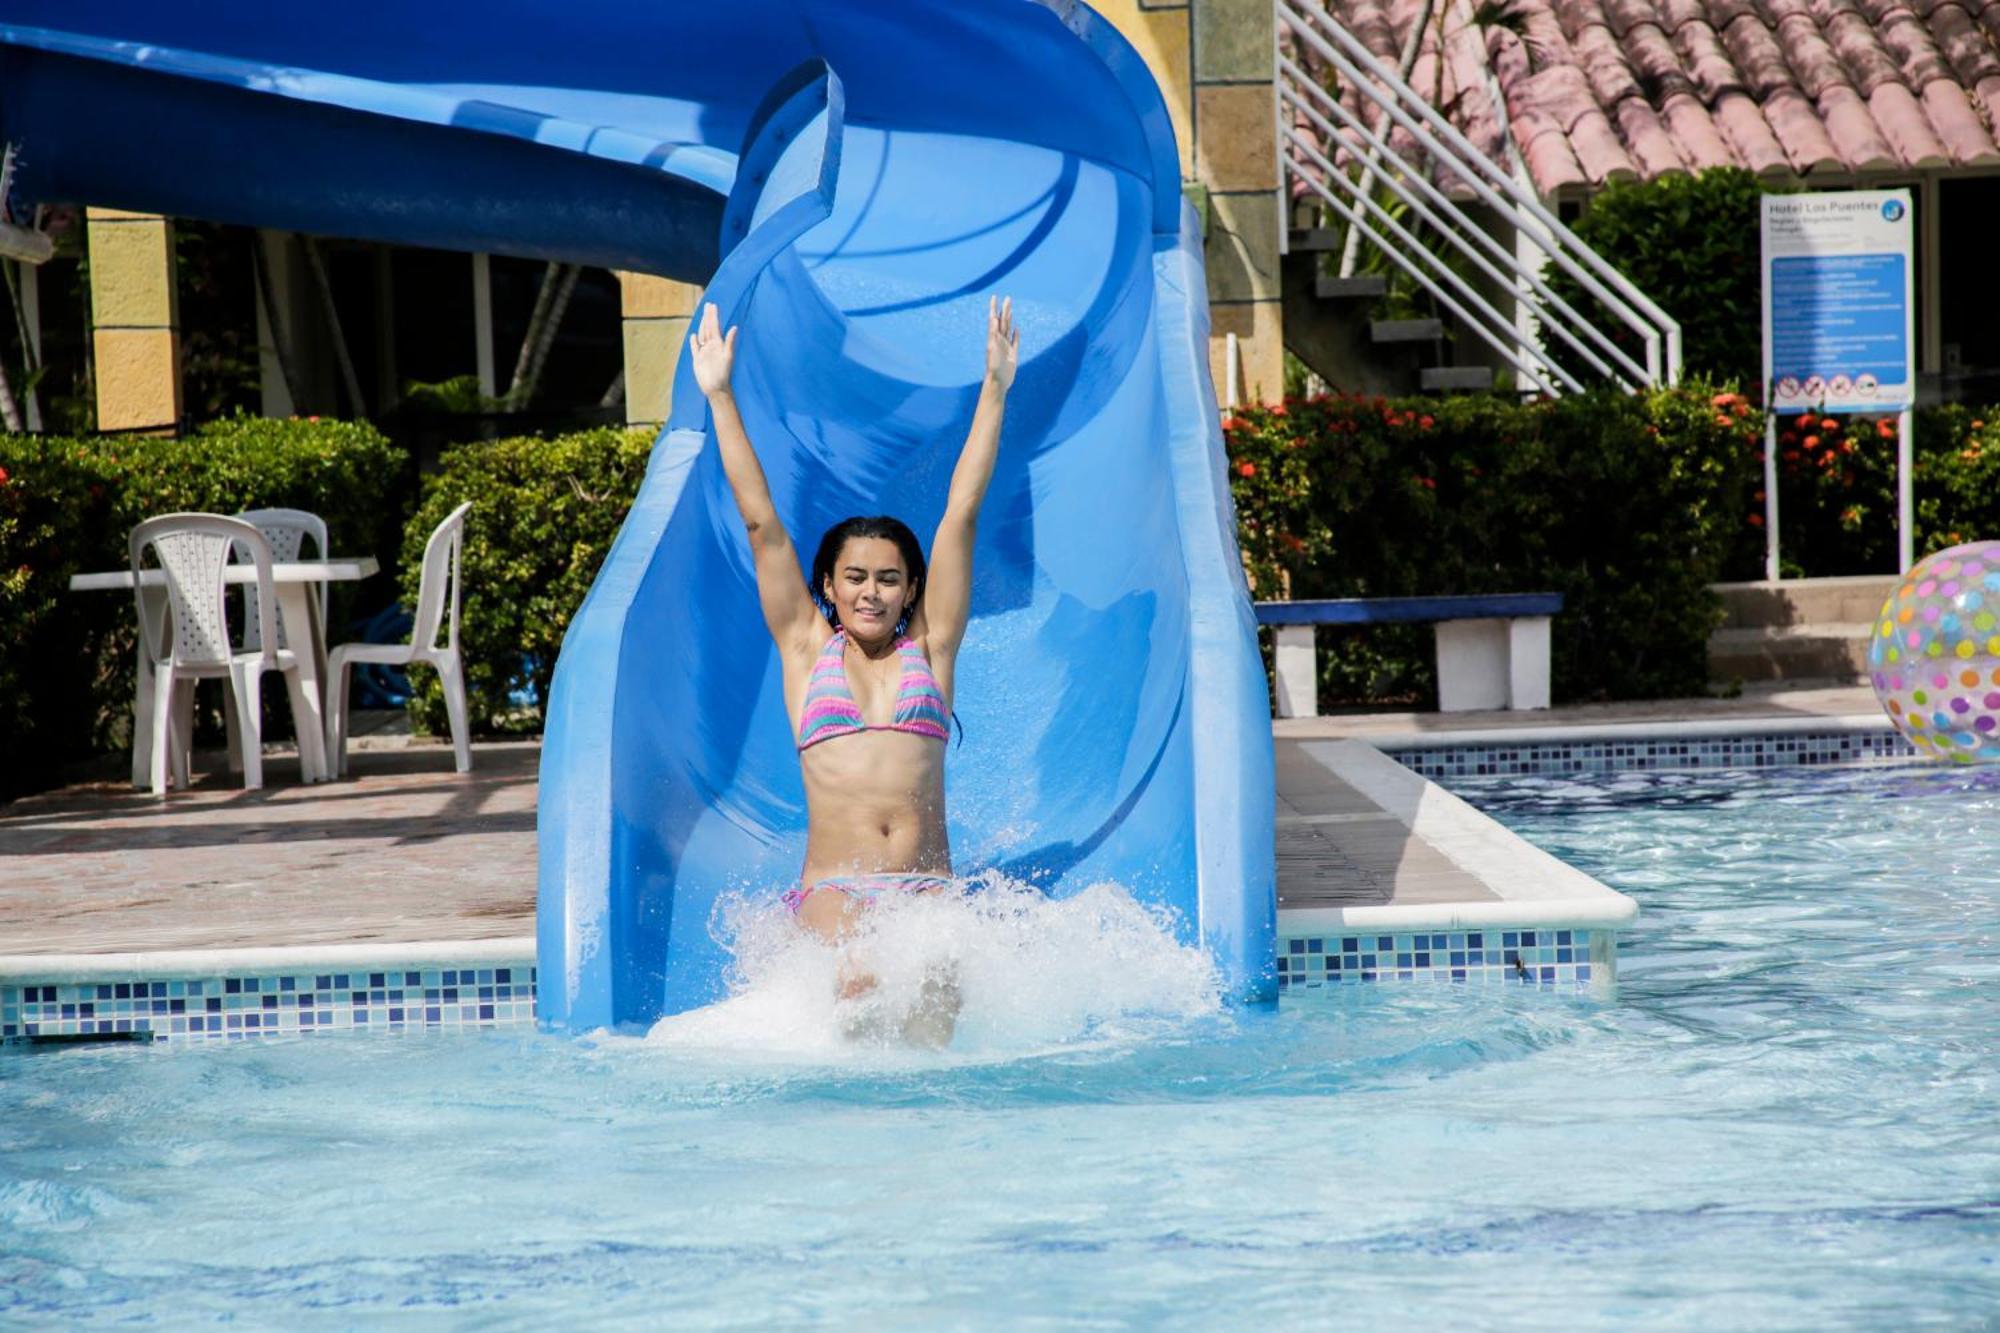
<path id="1" fill-rule="evenodd" d="M 1318 396 L 1224 422 L 1260 598 L 1562 592 L 1558 699 L 1698 695 L 1754 414 L 1706 386 L 1552 402 Z M 1324 632 L 1324 630 L 1322 630 Z M 1434 697 L 1430 630 L 1330 634 L 1330 703 Z"/>

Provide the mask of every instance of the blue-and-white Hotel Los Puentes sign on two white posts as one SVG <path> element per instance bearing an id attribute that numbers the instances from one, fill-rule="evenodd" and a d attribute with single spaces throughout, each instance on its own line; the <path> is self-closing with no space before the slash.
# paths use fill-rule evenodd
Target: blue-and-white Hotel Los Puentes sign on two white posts
<path id="1" fill-rule="evenodd" d="M 1908 190 L 1764 196 L 1764 576 L 1778 580 L 1778 416 L 1896 412 L 1896 546 L 1912 560 L 1916 402 Z"/>

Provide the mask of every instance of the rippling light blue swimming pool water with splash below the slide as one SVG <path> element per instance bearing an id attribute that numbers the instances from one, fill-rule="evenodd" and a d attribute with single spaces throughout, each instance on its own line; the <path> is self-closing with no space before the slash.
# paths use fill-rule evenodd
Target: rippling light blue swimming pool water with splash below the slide
<path id="1" fill-rule="evenodd" d="M 1640 899 L 1612 1003 L 1226 1013 L 1126 929 L 1030 949 L 998 999 L 1092 1003 L 1000 1005 L 954 1057 L 744 1025 L 10 1051 L 0 1323 L 2000 1311 L 2000 773 L 1454 787 Z"/>

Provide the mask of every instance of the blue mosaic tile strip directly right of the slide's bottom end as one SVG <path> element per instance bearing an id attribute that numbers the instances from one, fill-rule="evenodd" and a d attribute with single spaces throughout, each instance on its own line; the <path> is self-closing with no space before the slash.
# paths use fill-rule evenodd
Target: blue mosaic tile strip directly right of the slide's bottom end
<path id="1" fill-rule="evenodd" d="M 1292 935 L 1278 941 L 1278 993 L 1322 991 L 1362 981 L 1464 981 L 1580 987 L 1610 981 L 1612 965 L 1592 949 L 1618 941 L 1604 931 L 1416 931 Z"/>

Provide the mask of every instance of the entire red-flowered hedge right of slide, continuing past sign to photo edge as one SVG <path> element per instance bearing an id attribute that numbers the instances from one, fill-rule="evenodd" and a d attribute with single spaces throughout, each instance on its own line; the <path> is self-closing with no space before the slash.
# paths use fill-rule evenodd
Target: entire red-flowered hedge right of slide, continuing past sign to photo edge
<path id="1" fill-rule="evenodd" d="M 1562 592 L 1562 701 L 1706 693 L 1708 584 L 1764 576 L 1764 416 L 1730 386 L 1292 398 L 1224 432 L 1260 598 Z M 1778 442 L 1784 574 L 1894 572 L 1894 418 Z M 2000 412 L 1916 412 L 1912 450 L 1918 556 L 2000 534 Z M 1322 703 L 1436 697 L 1428 626 L 1320 634 Z"/>

